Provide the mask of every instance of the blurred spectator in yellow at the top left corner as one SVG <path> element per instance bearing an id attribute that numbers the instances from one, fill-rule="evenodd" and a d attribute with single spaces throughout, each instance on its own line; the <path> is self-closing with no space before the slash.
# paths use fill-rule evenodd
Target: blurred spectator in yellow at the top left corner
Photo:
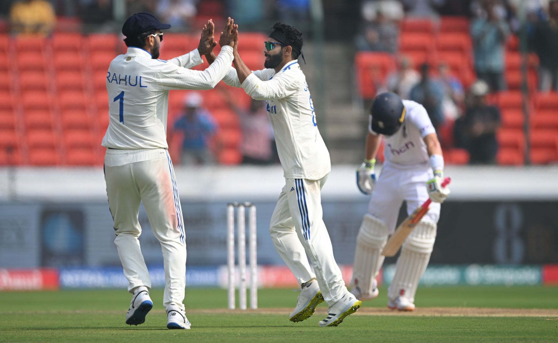
<path id="1" fill-rule="evenodd" d="M 20 0 L 9 12 L 12 33 L 48 36 L 54 30 L 56 13 L 46 0 Z"/>

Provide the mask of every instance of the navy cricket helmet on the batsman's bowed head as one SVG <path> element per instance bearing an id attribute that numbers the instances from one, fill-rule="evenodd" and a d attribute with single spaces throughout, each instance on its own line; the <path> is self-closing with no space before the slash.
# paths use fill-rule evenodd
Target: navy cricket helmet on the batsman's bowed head
<path id="1" fill-rule="evenodd" d="M 392 92 L 378 95 L 370 109 L 372 131 L 391 136 L 399 130 L 405 119 L 405 106 L 401 98 Z"/>

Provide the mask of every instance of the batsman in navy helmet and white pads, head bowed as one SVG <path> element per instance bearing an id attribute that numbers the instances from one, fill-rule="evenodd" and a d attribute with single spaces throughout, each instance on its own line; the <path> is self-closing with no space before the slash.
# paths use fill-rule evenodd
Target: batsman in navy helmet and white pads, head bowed
<path id="1" fill-rule="evenodd" d="M 351 292 L 360 300 L 378 296 L 376 276 L 384 261 L 382 249 L 395 231 L 403 200 L 411 215 L 430 197 L 429 211 L 403 242 L 387 294 L 389 308 L 413 311 L 417 286 L 434 247 L 440 203 L 450 194 L 442 186 L 442 149 L 425 108 L 391 92 L 374 99 L 368 131 L 357 185 L 372 197 L 357 236 Z M 382 136 L 385 162 L 377 179 L 374 163 Z"/>

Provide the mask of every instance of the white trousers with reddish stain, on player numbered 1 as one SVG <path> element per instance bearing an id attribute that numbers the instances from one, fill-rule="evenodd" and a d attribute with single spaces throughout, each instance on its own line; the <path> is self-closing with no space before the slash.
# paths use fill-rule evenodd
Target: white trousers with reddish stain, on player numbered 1
<path id="1" fill-rule="evenodd" d="M 135 162 L 134 162 L 135 161 Z M 165 267 L 163 303 L 169 310 L 184 310 L 186 242 L 182 208 L 172 161 L 166 149 L 112 150 L 105 155 L 105 182 L 110 213 L 114 219 L 118 256 L 128 291 L 146 286 L 151 279 L 140 249 L 138 222 L 143 202 L 153 235 L 161 243 Z"/>

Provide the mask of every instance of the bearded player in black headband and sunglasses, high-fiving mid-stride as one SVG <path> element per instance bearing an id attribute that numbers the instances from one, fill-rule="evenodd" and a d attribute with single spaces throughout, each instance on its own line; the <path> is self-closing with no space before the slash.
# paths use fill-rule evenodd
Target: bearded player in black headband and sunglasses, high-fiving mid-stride
<path id="1" fill-rule="evenodd" d="M 270 233 L 277 252 L 301 285 L 290 320 L 309 318 L 318 303 L 325 300 L 330 306 L 329 316 L 319 325 L 336 326 L 361 302 L 345 287 L 322 220 L 320 193 L 331 165 L 306 77 L 297 60 L 302 33 L 280 23 L 273 29 L 265 42 L 266 69 L 250 71 L 235 44 L 235 68 L 223 81 L 242 87 L 253 99 L 267 102 L 285 177 L 285 187 L 271 217 Z"/>

